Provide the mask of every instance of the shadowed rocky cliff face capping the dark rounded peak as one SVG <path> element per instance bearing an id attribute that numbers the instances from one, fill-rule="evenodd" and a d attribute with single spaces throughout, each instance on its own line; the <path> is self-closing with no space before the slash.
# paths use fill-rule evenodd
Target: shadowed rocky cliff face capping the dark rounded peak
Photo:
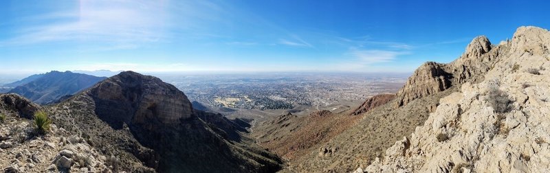
<path id="1" fill-rule="evenodd" d="M 126 71 L 85 91 L 96 104 L 96 113 L 115 128 L 122 123 L 155 130 L 193 116 L 183 92 L 153 76 Z"/>

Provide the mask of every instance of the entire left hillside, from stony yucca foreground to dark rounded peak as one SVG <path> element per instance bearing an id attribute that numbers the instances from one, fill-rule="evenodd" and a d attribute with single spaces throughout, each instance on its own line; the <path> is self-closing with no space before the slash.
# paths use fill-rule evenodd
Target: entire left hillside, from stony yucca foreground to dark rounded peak
<path id="1" fill-rule="evenodd" d="M 8 115 L 8 124 L 0 126 L 1 137 L 8 137 L 0 140 L 8 143 L 1 156 L 14 159 L 0 165 L 10 171 L 275 172 L 282 167 L 276 155 L 245 135 L 250 124 L 193 110 L 184 93 L 152 76 L 125 71 L 51 106 L 15 94 L 0 98 L 11 105 L 0 108 Z M 52 118 L 45 136 L 32 135 L 30 119 L 37 110 Z M 14 139 L 14 129 L 21 129 L 21 140 Z M 49 144 L 41 149 L 36 143 Z M 86 156 L 93 159 L 80 158 Z"/>

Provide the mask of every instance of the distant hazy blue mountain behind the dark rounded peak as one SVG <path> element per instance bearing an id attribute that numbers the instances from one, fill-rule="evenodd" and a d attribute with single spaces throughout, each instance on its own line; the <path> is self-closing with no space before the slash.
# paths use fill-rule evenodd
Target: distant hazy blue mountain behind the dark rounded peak
<path id="1" fill-rule="evenodd" d="M 34 80 L 32 80 L 34 79 Z M 97 82 L 104 80 L 96 76 L 89 76 L 70 71 L 51 71 L 43 75 L 30 76 L 18 82 L 19 85 L 8 93 L 17 93 L 33 102 L 47 104 L 64 95 L 72 95 L 87 89 Z M 23 84 L 27 82 L 26 84 Z"/>

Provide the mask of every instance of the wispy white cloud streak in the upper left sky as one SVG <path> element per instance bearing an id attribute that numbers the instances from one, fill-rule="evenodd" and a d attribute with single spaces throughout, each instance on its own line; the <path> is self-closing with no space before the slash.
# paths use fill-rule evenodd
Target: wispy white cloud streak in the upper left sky
<path id="1" fill-rule="evenodd" d="M 80 8 L 40 14 L 24 19 L 29 25 L 0 46 L 96 41 L 109 47 L 128 48 L 165 38 L 168 26 L 162 1 L 80 1 Z M 48 21 L 44 24 L 44 21 Z"/>

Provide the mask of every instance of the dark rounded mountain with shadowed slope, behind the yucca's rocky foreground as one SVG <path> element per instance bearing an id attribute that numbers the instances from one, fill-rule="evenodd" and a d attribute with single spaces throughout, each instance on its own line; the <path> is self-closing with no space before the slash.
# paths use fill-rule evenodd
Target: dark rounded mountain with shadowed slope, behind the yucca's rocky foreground
<path id="1" fill-rule="evenodd" d="M 58 126 L 82 132 L 98 150 L 120 158 L 120 170 L 273 172 L 281 167 L 251 139 L 232 137 L 233 124 L 209 125 L 227 125 L 225 119 L 204 122 L 184 93 L 152 76 L 122 72 L 51 111 Z"/>

